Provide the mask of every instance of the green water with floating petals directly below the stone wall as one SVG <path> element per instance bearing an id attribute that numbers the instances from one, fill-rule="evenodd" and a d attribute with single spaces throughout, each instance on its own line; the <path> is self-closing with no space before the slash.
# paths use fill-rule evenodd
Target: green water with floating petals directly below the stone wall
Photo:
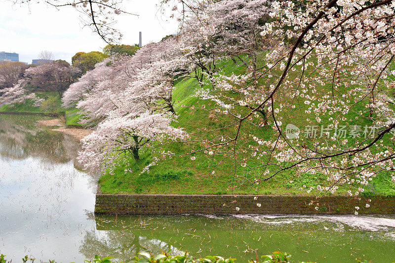
<path id="1" fill-rule="evenodd" d="M 260 255 L 288 251 L 295 261 L 395 259 L 395 217 L 189 215 L 115 219 L 97 215 L 95 220 L 102 240 L 106 239 L 97 248 L 112 247 L 106 252 L 113 252 L 125 262 L 133 255 L 130 252 L 158 252 L 161 246 L 172 246 L 197 256 L 236 257 L 239 262 L 254 258 L 255 250 Z M 125 243 L 118 243 L 117 238 L 125 237 Z M 96 237 L 88 243 L 98 244 L 99 240 Z M 86 244 L 81 246 L 82 253 L 85 247 Z"/>

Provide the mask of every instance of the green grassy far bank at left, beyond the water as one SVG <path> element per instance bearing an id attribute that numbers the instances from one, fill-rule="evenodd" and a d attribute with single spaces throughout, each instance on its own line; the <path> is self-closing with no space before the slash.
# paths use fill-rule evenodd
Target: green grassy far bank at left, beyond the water
<path id="1" fill-rule="evenodd" d="M 66 125 L 80 126 L 79 118 L 81 115 L 78 113 L 78 109 L 64 109 L 62 107 L 61 98 L 57 92 L 37 92 L 36 94 L 40 98 L 48 98 L 50 96 L 55 97 L 56 113 L 65 112 Z M 42 107 L 34 107 L 32 101 L 16 103 L 13 105 L 3 104 L 0 106 L 0 112 L 49 113 Z"/>

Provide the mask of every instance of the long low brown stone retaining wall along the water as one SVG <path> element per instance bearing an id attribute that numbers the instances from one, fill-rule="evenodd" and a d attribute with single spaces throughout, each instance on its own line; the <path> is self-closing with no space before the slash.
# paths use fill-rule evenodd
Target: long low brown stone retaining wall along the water
<path id="1" fill-rule="evenodd" d="M 257 200 L 254 200 L 257 197 Z M 204 195 L 204 194 L 96 194 L 95 213 L 174 214 L 395 214 L 395 198 L 374 197 L 371 202 L 348 196 Z M 311 201 L 313 205 L 309 205 Z M 257 204 L 261 204 L 258 207 Z M 319 203 L 317 205 L 316 203 Z M 366 208 L 366 203 L 370 207 Z M 319 207 L 318 210 L 315 207 Z M 237 208 L 239 208 L 237 210 Z"/>

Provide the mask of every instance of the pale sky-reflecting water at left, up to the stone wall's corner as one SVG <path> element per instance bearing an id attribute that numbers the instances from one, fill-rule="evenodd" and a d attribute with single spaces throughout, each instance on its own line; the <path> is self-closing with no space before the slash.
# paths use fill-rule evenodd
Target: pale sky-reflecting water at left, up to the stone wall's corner
<path id="1" fill-rule="evenodd" d="M 0 250 L 82 261 L 78 243 L 94 221 L 93 179 L 76 169 L 79 142 L 37 125 L 38 116 L 0 115 Z"/>

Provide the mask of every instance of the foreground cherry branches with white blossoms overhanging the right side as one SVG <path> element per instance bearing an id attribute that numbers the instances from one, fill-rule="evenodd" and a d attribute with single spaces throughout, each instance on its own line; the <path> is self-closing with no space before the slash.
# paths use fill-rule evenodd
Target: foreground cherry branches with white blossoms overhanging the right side
<path id="1" fill-rule="evenodd" d="M 223 128 L 236 127 L 231 139 L 213 136 L 207 139 L 209 147 L 196 150 L 233 157 L 238 165 L 258 171 L 251 183 L 288 169 L 321 172 L 329 184 L 318 190 L 356 182 L 359 187 L 350 195 L 357 195 L 378 173 L 394 170 L 389 94 L 395 73 L 395 3 L 273 1 L 269 7 L 272 19 L 257 30 L 270 45 L 262 50 L 256 71 L 213 75 L 211 88 L 200 91 L 217 104 L 213 111 L 232 116 Z M 246 105 L 254 107 L 240 107 Z M 270 113 L 270 139 L 260 131 L 265 120 L 257 113 L 262 110 Z M 290 138 L 287 130 L 296 124 L 305 129 Z M 251 125 L 257 127 L 252 132 Z M 252 142 L 245 145 L 245 138 Z M 250 166 L 257 158 L 261 164 Z"/>

